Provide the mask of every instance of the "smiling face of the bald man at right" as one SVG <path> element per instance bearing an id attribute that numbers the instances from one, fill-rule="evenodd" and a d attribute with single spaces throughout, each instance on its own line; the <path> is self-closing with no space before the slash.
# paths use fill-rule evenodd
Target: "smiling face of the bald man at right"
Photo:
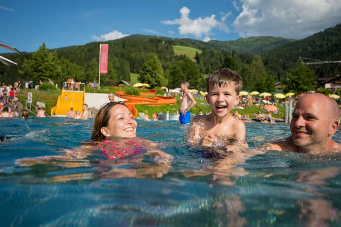
<path id="1" fill-rule="evenodd" d="M 290 122 L 294 144 L 306 149 L 323 146 L 328 136 L 332 136 L 328 112 L 327 102 L 303 97 L 297 103 Z"/>

